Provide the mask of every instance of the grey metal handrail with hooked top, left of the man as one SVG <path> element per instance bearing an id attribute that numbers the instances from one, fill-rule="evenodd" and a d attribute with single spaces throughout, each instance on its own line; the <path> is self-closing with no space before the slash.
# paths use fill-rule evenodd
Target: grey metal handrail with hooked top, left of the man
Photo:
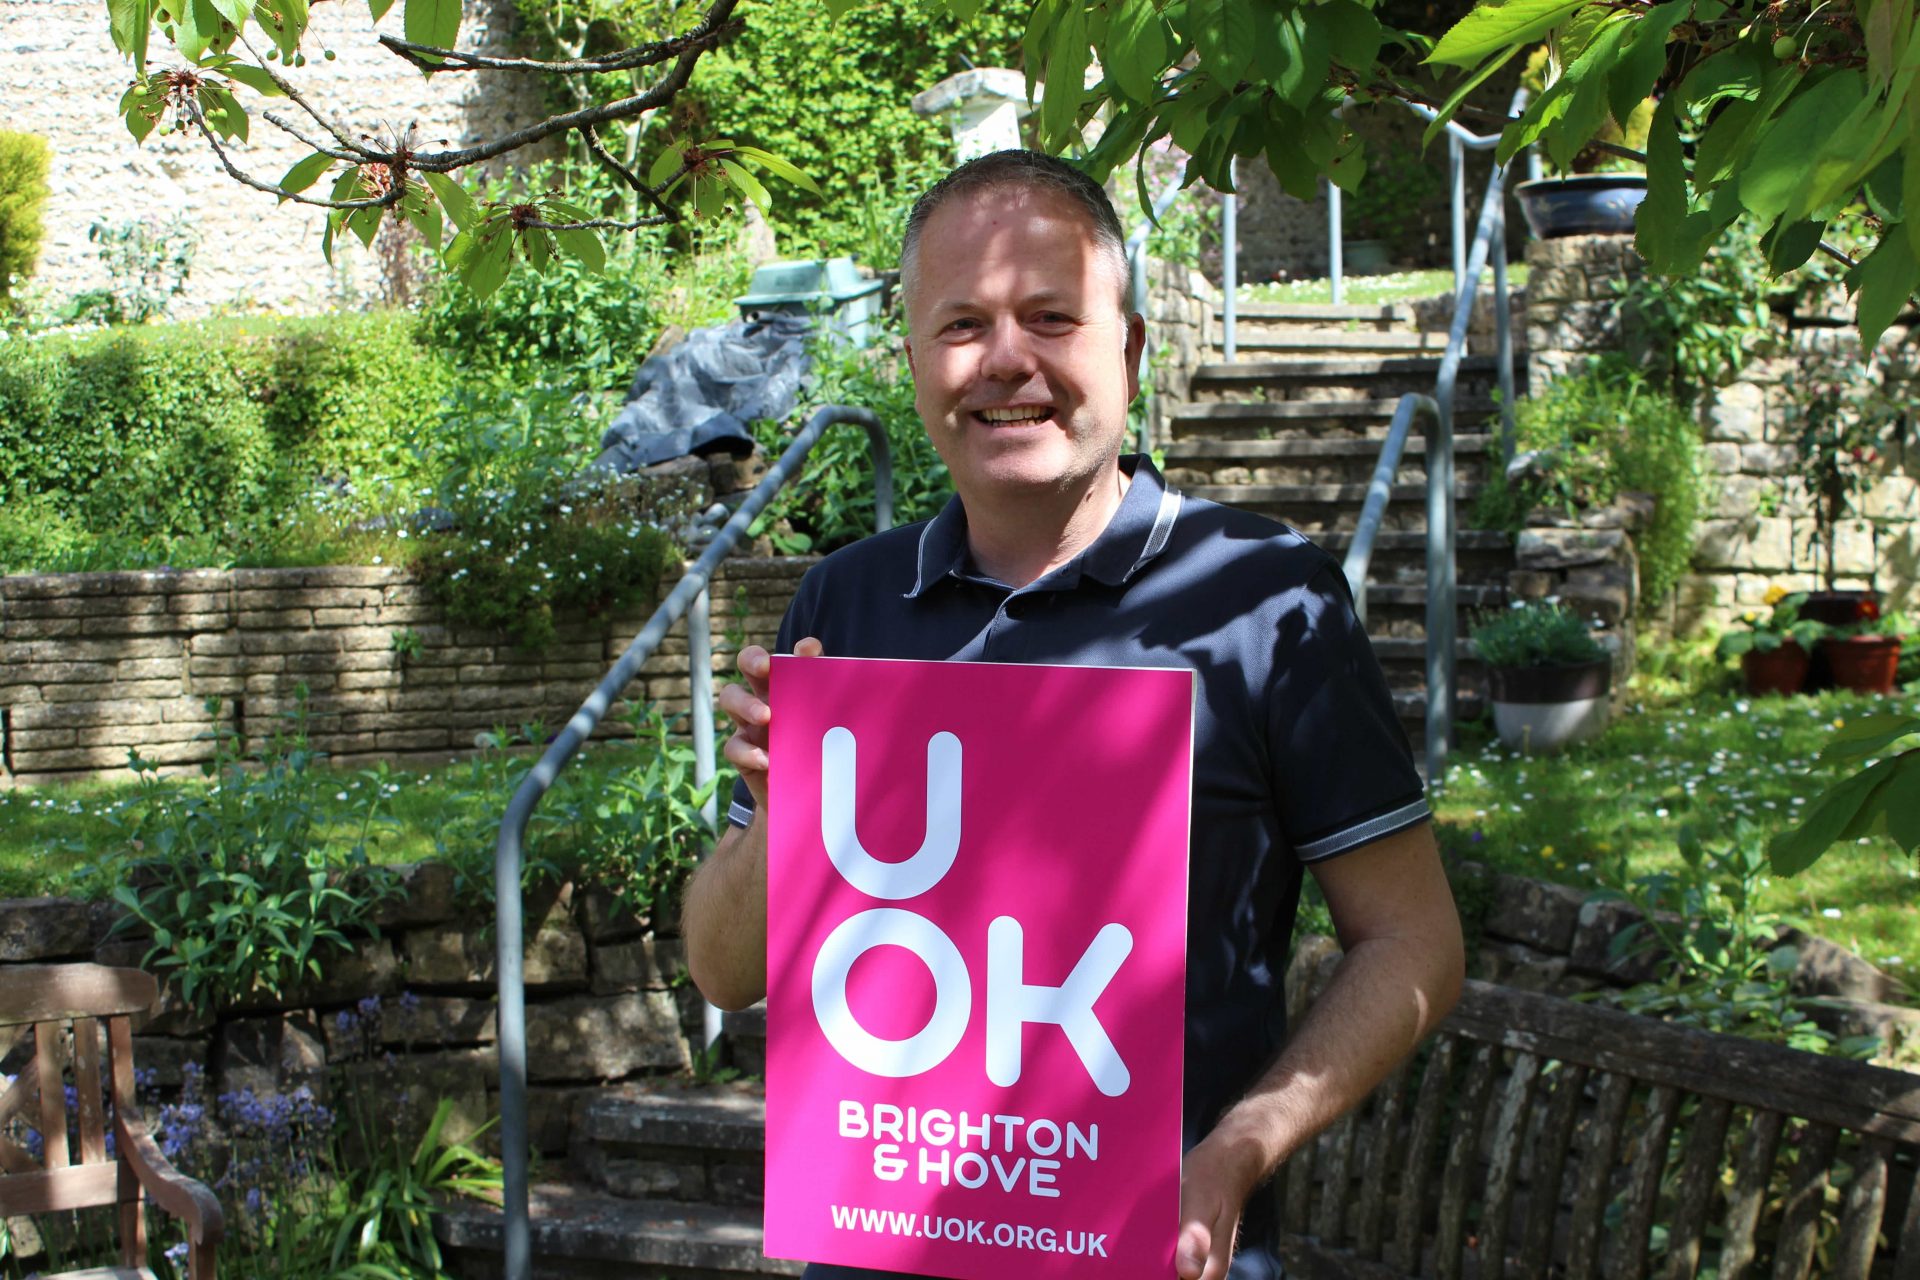
<path id="1" fill-rule="evenodd" d="M 493 852 L 493 921 L 495 921 L 495 973 L 499 984 L 499 1148 L 501 1148 L 501 1182 L 503 1182 L 503 1255 L 505 1255 L 505 1274 L 507 1280 L 528 1280 L 532 1274 L 532 1230 L 530 1230 L 530 1207 L 528 1207 L 528 1123 L 526 1123 L 526 975 L 522 969 L 524 960 L 524 919 L 520 902 L 520 865 L 522 865 L 522 844 L 526 841 L 526 825 L 534 818 L 534 808 L 540 804 L 547 789 L 559 777 L 566 762 L 574 758 L 582 743 L 593 733 L 593 727 L 612 706 L 620 691 L 626 689 L 628 681 L 639 672 L 639 664 L 645 662 L 655 647 L 672 626 L 680 620 L 689 606 L 697 606 L 695 614 L 699 618 L 699 628 L 695 633 L 695 622 L 689 618 L 687 624 L 687 647 L 693 651 L 689 654 L 691 681 L 693 689 L 693 708 L 695 708 L 695 727 L 693 727 L 693 747 L 695 747 L 695 779 L 705 785 L 714 775 L 712 762 L 712 654 L 703 652 L 707 649 L 708 628 L 707 628 L 707 583 L 712 580 L 714 570 L 720 560 L 728 557 L 730 551 L 747 535 L 747 528 L 753 524 L 755 516 L 772 501 L 774 493 L 780 491 L 787 480 L 801 468 L 806 455 L 820 441 L 829 426 L 841 422 L 852 422 L 866 428 L 868 441 L 874 447 L 874 524 L 876 532 L 893 526 L 893 455 L 887 449 L 887 428 L 881 424 L 868 409 L 854 409 L 851 405 L 826 405 L 814 411 L 806 420 L 806 426 L 799 430 L 793 443 L 787 445 L 780 461 L 774 462 L 766 478 L 755 486 L 747 501 L 739 505 L 726 526 L 714 533 L 714 539 L 701 553 L 701 558 L 693 562 L 693 568 L 685 572 L 680 583 L 660 601 L 660 606 L 653 610 L 647 626 L 639 629 L 634 643 L 626 647 L 620 660 L 612 664 L 612 670 L 601 677 L 599 687 L 588 695 L 588 700 L 580 704 L 566 727 L 553 739 L 540 762 L 526 773 L 520 787 L 513 793 L 513 800 L 507 802 L 507 814 L 499 823 L 499 844 Z M 701 729 L 699 708 L 705 704 L 705 731 Z M 703 737 L 705 733 L 705 737 Z M 701 743 L 705 741 L 705 752 Z M 705 766 L 701 764 L 705 760 Z M 703 773 L 705 771 L 705 773 Z M 712 808 L 708 816 L 712 816 Z M 712 1017 L 708 1015 L 708 1023 Z"/>

